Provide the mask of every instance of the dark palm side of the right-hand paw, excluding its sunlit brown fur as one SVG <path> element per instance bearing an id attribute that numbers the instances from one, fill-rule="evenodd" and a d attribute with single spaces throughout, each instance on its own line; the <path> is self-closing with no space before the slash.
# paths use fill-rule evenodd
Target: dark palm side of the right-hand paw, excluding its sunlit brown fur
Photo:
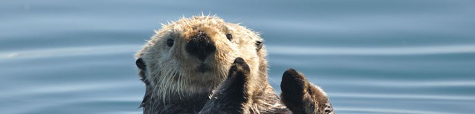
<path id="1" fill-rule="evenodd" d="M 282 102 L 293 113 L 304 113 L 303 97 L 308 86 L 307 79 L 295 69 L 287 69 L 282 76 L 280 89 L 282 89 Z"/>

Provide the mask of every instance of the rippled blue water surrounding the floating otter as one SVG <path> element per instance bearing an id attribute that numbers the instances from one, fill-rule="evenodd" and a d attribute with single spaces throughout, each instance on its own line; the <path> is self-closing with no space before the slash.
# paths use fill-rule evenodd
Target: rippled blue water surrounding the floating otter
<path id="1" fill-rule="evenodd" d="M 181 16 L 261 32 L 338 113 L 475 113 L 475 1 L 0 1 L 1 113 L 141 113 L 133 54 Z"/>

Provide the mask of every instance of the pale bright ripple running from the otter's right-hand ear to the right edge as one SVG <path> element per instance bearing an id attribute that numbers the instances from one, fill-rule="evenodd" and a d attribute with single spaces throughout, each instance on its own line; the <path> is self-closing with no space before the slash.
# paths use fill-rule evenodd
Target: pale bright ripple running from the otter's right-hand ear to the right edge
<path id="1" fill-rule="evenodd" d="M 449 45 L 427 47 L 291 47 L 269 46 L 271 54 L 309 55 L 361 55 L 361 56 L 391 56 L 391 55 L 425 55 L 425 54 L 458 54 L 475 53 L 475 45 Z"/>

